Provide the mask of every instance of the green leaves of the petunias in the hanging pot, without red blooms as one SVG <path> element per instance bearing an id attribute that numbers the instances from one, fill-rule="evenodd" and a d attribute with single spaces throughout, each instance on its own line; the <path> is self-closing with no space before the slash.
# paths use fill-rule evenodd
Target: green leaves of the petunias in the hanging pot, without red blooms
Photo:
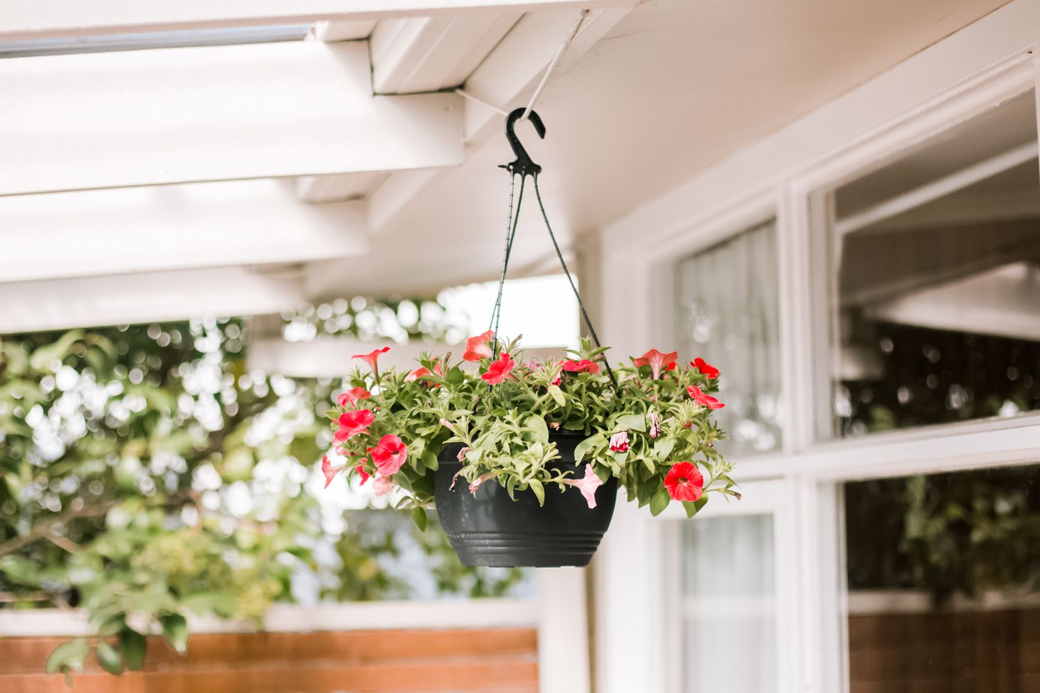
<path id="1" fill-rule="evenodd" d="M 365 389 L 368 396 L 330 411 L 332 429 L 339 431 L 340 416 L 356 409 L 373 412 L 374 421 L 348 437 L 344 429 L 339 450 L 364 460 L 366 473 L 380 474 L 370 450 L 384 436 L 400 437 L 408 447 L 407 461 L 383 476 L 406 491 L 398 507 L 407 508 L 433 503 L 436 462 L 431 462 L 450 443 L 462 446 L 460 475 L 471 489 L 494 480 L 512 498 L 529 490 L 540 503 L 546 484 L 566 490 L 575 471 L 549 464 L 560 457 L 550 430 L 583 434 L 578 461 L 591 464 L 601 480 L 616 477 L 629 500 L 641 506 L 649 503 L 653 514 L 672 500 L 664 480 L 678 461 L 692 461 L 706 472 L 705 491 L 738 496 L 729 477 L 731 467 L 714 448 L 722 431 L 710 409 L 687 395 L 690 385 L 704 392 L 714 389 L 714 381 L 697 369 L 675 369 L 654 378 L 650 367 L 617 367 L 616 389 L 603 368 L 566 371 L 565 362 L 525 362 L 517 341 L 499 346 L 497 352 L 505 354 L 505 361 L 496 365 L 485 356 L 475 370 L 453 364 L 450 354 L 423 354 L 421 368 L 411 374 L 357 370 L 350 385 Z M 583 340 L 572 354 L 594 362 L 603 351 Z M 508 364 L 512 366 L 504 379 L 489 383 L 482 377 Z M 653 417 L 659 430 L 651 434 Z M 612 434 L 622 432 L 629 436 L 628 449 L 612 450 Z M 344 469 L 348 475 L 358 474 L 354 465 Z"/>

